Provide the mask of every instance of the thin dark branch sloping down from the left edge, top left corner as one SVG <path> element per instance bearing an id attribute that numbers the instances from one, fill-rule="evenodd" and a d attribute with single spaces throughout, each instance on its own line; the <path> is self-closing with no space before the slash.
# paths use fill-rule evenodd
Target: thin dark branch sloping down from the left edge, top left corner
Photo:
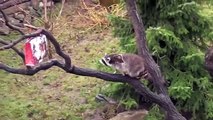
<path id="1" fill-rule="evenodd" d="M 3 12 L 2 9 L 0 9 L 0 13 L 3 15 L 3 18 L 5 20 L 5 24 L 12 30 L 16 30 L 18 31 L 20 34 L 24 35 L 24 32 L 20 30 L 19 27 L 15 26 L 15 25 L 12 25 L 7 17 L 7 15 Z"/>

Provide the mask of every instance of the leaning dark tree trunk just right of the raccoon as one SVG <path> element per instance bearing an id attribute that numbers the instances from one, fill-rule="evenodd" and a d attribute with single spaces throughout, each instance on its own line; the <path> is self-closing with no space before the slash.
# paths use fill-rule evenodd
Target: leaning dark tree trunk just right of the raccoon
<path id="1" fill-rule="evenodd" d="M 137 13 L 136 1 L 135 0 L 126 0 L 128 15 L 133 24 L 135 31 L 136 42 L 138 47 L 138 54 L 142 56 L 146 61 L 146 68 L 152 76 L 151 81 L 154 83 L 154 86 L 157 90 L 158 95 L 161 97 L 161 101 L 155 101 L 162 107 L 166 113 L 166 120 L 186 120 L 176 109 L 171 99 L 167 94 L 166 87 L 164 86 L 165 80 L 161 74 L 161 71 L 158 65 L 155 63 L 151 55 L 149 54 L 147 43 L 146 43 L 146 34 L 143 25 L 143 21 L 139 14 Z M 142 91 L 141 91 L 142 92 Z"/>

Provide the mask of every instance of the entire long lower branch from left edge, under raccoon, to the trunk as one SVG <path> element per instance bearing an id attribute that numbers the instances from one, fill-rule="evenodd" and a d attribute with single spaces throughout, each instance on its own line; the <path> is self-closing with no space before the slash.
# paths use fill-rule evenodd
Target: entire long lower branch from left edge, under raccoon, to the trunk
<path id="1" fill-rule="evenodd" d="M 128 77 L 128 76 L 122 76 L 121 74 L 110 74 L 106 72 L 101 72 L 101 71 L 96 71 L 92 69 L 85 69 L 85 68 L 79 68 L 73 66 L 73 69 L 67 70 L 63 63 L 60 63 L 57 60 L 51 60 L 45 63 L 41 63 L 39 66 L 32 68 L 32 69 L 16 69 L 16 68 L 11 68 L 7 65 L 4 65 L 0 63 L 0 69 L 5 70 L 9 73 L 14 73 L 14 74 L 22 74 L 22 75 L 34 75 L 37 72 L 41 70 L 47 70 L 53 66 L 58 66 L 62 68 L 63 70 L 67 71 L 68 73 L 72 73 L 75 75 L 81 75 L 81 76 L 89 76 L 89 77 L 96 77 L 100 78 L 105 81 L 111 81 L 111 82 L 122 82 L 122 83 L 129 83 L 132 85 L 141 95 L 146 97 L 147 99 L 150 99 L 150 101 L 153 101 L 157 104 L 162 104 L 162 99 L 163 97 L 151 92 L 148 90 L 141 82 L 137 79 Z"/>

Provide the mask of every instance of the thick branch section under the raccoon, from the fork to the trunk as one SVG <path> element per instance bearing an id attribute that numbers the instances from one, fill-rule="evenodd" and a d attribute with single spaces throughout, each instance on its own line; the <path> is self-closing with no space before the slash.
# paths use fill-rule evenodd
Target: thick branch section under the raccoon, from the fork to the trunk
<path id="1" fill-rule="evenodd" d="M 136 89 L 145 98 L 159 105 L 166 106 L 166 104 L 162 102 L 163 101 L 162 99 L 165 99 L 163 96 L 153 93 L 137 79 L 128 76 L 123 76 L 121 74 L 110 74 L 106 72 L 79 68 L 75 66 L 73 66 L 73 69 L 70 70 L 69 73 L 81 76 L 96 77 L 105 81 L 128 83 L 131 86 L 133 86 L 133 88 Z"/>

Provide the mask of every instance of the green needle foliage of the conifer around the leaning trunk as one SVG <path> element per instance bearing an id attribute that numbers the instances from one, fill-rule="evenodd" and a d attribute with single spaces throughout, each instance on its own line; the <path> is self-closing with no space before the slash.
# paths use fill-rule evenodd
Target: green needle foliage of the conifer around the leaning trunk
<path id="1" fill-rule="evenodd" d="M 205 50 L 213 40 L 210 21 L 213 15 L 205 15 L 202 12 L 204 5 L 200 3 L 199 0 L 138 0 L 138 8 L 149 50 L 170 82 L 168 91 L 174 104 L 181 112 L 189 112 L 192 119 L 210 120 L 213 119 L 213 81 L 203 63 Z M 207 3 L 205 1 L 205 5 Z M 130 21 L 113 15 L 109 19 L 123 51 L 135 53 L 134 30 Z M 118 90 L 121 87 L 111 85 L 111 92 L 116 95 L 113 86 Z M 123 87 L 127 88 L 126 85 Z M 154 112 L 157 111 L 151 111 L 154 117 L 148 117 L 158 119 L 156 115 L 159 114 Z"/>

